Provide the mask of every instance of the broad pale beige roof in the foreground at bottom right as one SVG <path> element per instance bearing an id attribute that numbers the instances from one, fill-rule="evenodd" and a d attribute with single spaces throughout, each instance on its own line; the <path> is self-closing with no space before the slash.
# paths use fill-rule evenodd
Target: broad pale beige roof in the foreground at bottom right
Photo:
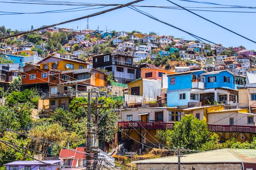
<path id="1" fill-rule="evenodd" d="M 256 163 L 255 149 L 218 149 L 207 152 L 198 152 L 188 154 L 182 157 L 181 163 Z M 141 161 L 133 161 L 132 163 L 178 163 L 178 157 L 162 157 L 156 159 L 147 159 Z"/>

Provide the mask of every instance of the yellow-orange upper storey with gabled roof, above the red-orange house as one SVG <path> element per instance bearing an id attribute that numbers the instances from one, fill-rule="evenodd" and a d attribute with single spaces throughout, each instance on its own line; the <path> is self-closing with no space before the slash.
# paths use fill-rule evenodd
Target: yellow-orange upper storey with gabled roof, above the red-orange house
<path id="1" fill-rule="evenodd" d="M 82 60 L 72 60 L 56 56 L 49 56 L 38 62 L 38 64 L 40 64 L 40 69 L 55 69 L 59 71 L 87 68 L 88 65 L 88 63 Z"/>

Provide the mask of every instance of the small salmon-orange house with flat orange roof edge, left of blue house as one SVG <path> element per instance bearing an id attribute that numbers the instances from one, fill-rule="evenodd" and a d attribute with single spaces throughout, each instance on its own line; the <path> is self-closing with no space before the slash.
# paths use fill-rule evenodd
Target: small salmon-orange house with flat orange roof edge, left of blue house
<path id="1" fill-rule="evenodd" d="M 141 68 L 141 78 L 143 79 L 160 79 L 162 74 L 174 74 L 175 71 L 167 71 L 159 68 Z"/>

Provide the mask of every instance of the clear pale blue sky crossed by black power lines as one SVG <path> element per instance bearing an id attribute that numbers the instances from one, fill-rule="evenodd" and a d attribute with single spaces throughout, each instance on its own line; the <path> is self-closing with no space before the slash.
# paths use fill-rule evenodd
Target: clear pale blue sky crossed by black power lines
<path id="1" fill-rule="evenodd" d="M 256 7 L 256 0 L 195 0 L 194 2 L 188 2 L 184 0 L 170 0 L 176 4 L 179 4 L 186 9 L 196 9 L 196 10 L 214 10 L 214 11 L 240 11 L 240 12 L 251 12 L 251 13 L 234 13 L 234 12 L 213 12 L 213 11 L 193 11 L 198 15 L 203 16 L 213 22 L 216 22 L 227 29 L 230 29 L 240 35 L 245 36 L 253 41 L 256 41 L 255 33 L 255 22 L 256 18 L 256 8 L 234 8 L 237 6 L 243 7 Z M 4 3 L 4 2 L 15 2 L 15 3 Z M 103 11 L 112 7 L 103 7 L 98 9 L 90 9 L 92 7 L 86 6 L 67 6 L 67 5 L 46 5 L 46 4 L 19 4 L 17 2 L 36 2 L 36 0 L 27 1 L 17 1 L 17 0 L 6 0 L 0 1 L 0 25 L 4 25 L 5 28 L 11 28 L 12 30 L 18 29 L 19 31 L 30 30 L 31 25 L 34 28 L 38 28 L 42 25 L 51 25 L 59 22 L 64 22 L 67 20 L 72 20 L 85 15 Z M 39 3 L 39 1 L 37 0 Z M 62 2 L 64 1 L 46 1 L 42 2 Z M 67 0 L 68 2 L 79 2 L 79 3 L 92 3 L 92 4 L 115 4 L 115 3 L 128 3 L 132 0 Z M 211 2 L 211 3 L 198 3 L 198 2 Z M 219 4 L 219 5 L 218 5 Z M 221 5 L 220 5 L 221 4 Z M 136 5 L 147 5 L 147 6 L 165 6 L 165 7 L 177 7 L 167 0 L 144 0 L 137 3 Z M 226 6 L 223 6 L 226 5 Z M 84 8 L 81 8 L 84 7 Z M 194 7 L 194 8 L 191 8 Z M 198 8 L 201 7 L 201 8 Z M 207 8 L 202 8 L 207 7 Z M 210 8 L 209 8 L 210 7 Z M 214 8 L 212 8 L 214 7 Z M 218 7 L 218 8 L 216 8 Z M 225 7 L 225 8 L 223 8 Z M 227 8 L 228 7 L 228 8 Z M 232 8 L 231 8 L 232 7 Z M 45 12 L 45 11 L 55 11 L 55 10 L 67 10 L 72 8 L 81 8 L 73 12 L 64 13 L 40 13 L 40 14 L 17 14 L 17 15 L 5 15 L 6 12 L 16 12 L 16 13 L 33 13 L 33 12 Z M 165 9 L 156 7 L 136 7 L 137 9 L 144 11 L 158 20 L 167 22 L 176 26 L 180 29 L 193 33 L 199 37 L 207 39 L 211 42 L 222 43 L 223 46 L 240 46 L 243 45 L 247 49 L 255 49 L 256 44 L 249 40 L 246 40 L 234 33 L 231 33 L 219 26 L 216 26 L 202 18 L 199 18 L 192 13 L 185 10 L 180 10 L 177 8 Z M 90 9 L 90 10 L 83 10 Z M 87 25 L 87 20 L 79 20 L 76 22 L 70 22 L 64 25 L 59 25 L 57 27 L 73 28 L 73 29 L 85 29 Z M 154 31 L 159 33 L 159 35 L 173 35 L 175 38 L 183 38 L 185 40 L 195 40 L 189 34 L 177 30 L 171 26 L 167 26 L 163 23 L 155 21 L 148 18 L 137 11 L 134 11 L 128 7 L 122 9 L 117 9 L 115 11 L 110 11 L 102 15 L 97 15 L 89 18 L 89 28 L 97 29 L 99 26 L 100 30 L 108 31 L 132 31 L 137 30 L 142 33 L 149 33 Z M 204 41 L 204 40 L 203 40 Z M 207 41 L 204 41 L 207 42 Z M 208 42 L 207 42 L 208 43 Z"/>

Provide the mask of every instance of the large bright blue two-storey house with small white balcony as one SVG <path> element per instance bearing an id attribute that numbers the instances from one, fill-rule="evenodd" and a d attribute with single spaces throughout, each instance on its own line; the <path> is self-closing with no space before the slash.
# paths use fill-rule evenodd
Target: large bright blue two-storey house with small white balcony
<path id="1" fill-rule="evenodd" d="M 238 86 L 245 86 L 245 76 L 235 75 L 229 70 L 168 75 L 167 106 L 188 108 L 213 102 L 237 106 Z"/>

